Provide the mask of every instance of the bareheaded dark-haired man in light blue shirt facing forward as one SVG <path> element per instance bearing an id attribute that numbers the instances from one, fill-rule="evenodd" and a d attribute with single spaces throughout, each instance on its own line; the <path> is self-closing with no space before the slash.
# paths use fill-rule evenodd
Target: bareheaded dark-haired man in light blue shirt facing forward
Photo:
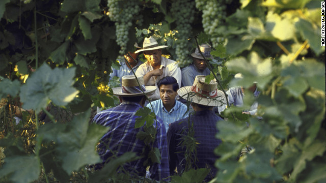
<path id="1" fill-rule="evenodd" d="M 153 112 L 163 120 L 165 128 L 168 130 L 171 123 L 188 116 L 187 106 L 175 99 L 178 95 L 179 85 L 174 77 L 167 76 L 160 79 L 157 87 L 160 99 L 151 102 Z M 147 104 L 146 107 L 151 109 L 151 104 Z"/>

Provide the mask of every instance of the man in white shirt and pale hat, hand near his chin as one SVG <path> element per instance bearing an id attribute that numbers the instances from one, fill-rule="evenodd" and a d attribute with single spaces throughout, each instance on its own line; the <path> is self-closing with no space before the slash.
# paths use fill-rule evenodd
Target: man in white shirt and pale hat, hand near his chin
<path id="1" fill-rule="evenodd" d="M 145 38 L 143 49 L 135 51 L 139 53 L 144 51 L 144 56 L 147 62 L 142 64 L 136 71 L 136 75 L 144 76 L 146 86 L 155 86 L 156 83 L 163 77 L 173 76 L 179 87 L 181 86 L 181 70 L 174 60 L 161 56 L 161 48 L 168 46 L 159 46 L 153 37 Z M 158 88 L 153 95 L 149 95 L 152 100 L 159 99 Z"/>

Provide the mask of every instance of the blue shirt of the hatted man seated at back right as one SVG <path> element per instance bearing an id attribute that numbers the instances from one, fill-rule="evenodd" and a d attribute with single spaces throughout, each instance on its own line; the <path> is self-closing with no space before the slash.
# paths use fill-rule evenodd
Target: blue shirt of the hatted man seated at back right
<path id="1" fill-rule="evenodd" d="M 182 74 L 182 86 L 192 86 L 195 78 L 197 75 L 204 75 L 207 76 L 210 74 L 210 71 L 208 68 L 206 68 L 204 71 L 200 71 L 194 64 L 191 64 L 181 70 Z"/>

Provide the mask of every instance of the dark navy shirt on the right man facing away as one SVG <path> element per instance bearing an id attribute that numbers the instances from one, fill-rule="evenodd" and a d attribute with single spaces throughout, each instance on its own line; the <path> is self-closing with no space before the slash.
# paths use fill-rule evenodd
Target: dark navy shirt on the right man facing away
<path id="1" fill-rule="evenodd" d="M 197 143 L 197 159 L 192 165 L 193 168 L 210 168 L 210 173 L 205 180 L 208 181 L 215 177 L 217 169 L 214 164 L 219 156 L 214 154 L 214 149 L 222 143 L 222 140 L 216 139 L 216 133 L 219 130 L 216 124 L 223 120 L 217 116 L 212 110 L 197 111 L 194 115 L 189 117 L 189 124 L 193 123 L 194 138 Z M 169 164 L 170 174 L 173 175 L 177 167 L 178 173 L 182 173 L 185 168 L 185 147 L 180 145 L 182 136 L 188 132 L 188 118 L 175 121 L 171 124 L 168 133 L 168 147 L 169 147 Z"/>

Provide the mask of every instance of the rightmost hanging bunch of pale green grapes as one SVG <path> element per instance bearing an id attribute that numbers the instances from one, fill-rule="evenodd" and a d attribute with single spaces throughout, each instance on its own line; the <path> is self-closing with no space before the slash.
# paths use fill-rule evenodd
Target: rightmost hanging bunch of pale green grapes
<path id="1" fill-rule="evenodd" d="M 218 26 L 221 25 L 226 18 L 226 3 L 231 0 L 196 0 L 196 7 L 203 11 L 202 23 L 206 34 L 211 35 L 213 47 L 224 42 L 224 37 L 218 32 Z"/>

